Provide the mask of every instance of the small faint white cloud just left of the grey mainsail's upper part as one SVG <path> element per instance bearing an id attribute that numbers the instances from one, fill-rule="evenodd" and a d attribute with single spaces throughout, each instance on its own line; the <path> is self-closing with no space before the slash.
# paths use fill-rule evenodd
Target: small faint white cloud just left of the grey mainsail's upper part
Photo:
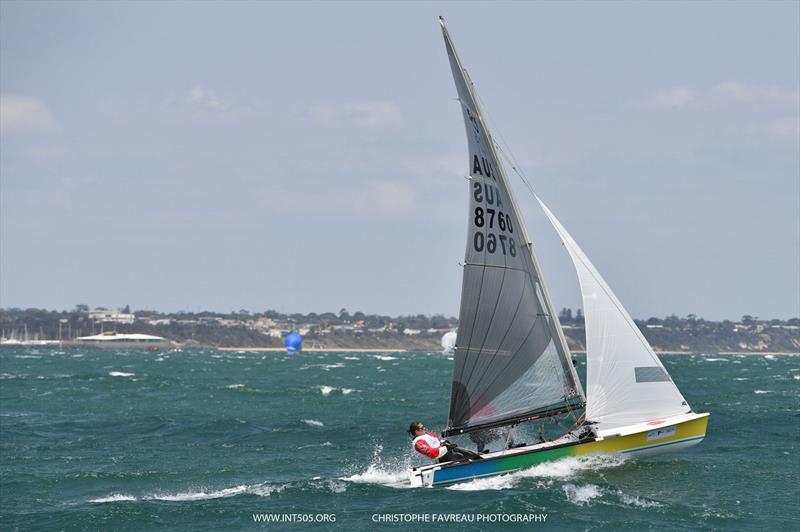
<path id="1" fill-rule="evenodd" d="M 400 109 L 392 102 L 319 104 L 311 108 L 309 118 L 321 126 L 363 129 L 392 129 L 403 123 Z"/>

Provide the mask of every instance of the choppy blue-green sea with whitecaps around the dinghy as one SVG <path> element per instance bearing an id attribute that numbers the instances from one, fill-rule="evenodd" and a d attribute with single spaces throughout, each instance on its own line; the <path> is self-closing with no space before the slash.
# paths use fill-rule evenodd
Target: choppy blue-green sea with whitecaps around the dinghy
<path id="1" fill-rule="evenodd" d="M 447 355 L 0 350 L 0 529 L 797 530 L 800 357 L 661 358 L 699 445 L 409 489 Z"/>

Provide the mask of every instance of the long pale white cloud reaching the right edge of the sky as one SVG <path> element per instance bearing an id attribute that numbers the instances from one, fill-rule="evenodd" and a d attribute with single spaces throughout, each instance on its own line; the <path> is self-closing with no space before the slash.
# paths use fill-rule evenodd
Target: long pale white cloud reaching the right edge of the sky
<path id="1" fill-rule="evenodd" d="M 725 81 L 705 88 L 662 89 L 642 100 L 638 107 L 648 111 L 709 111 L 730 107 L 796 110 L 800 108 L 800 91 Z"/>

